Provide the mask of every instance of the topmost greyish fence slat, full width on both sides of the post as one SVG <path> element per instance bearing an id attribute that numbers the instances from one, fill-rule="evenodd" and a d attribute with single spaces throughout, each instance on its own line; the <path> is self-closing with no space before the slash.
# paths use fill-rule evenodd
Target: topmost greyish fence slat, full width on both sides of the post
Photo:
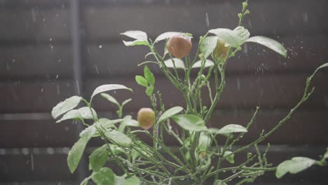
<path id="1" fill-rule="evenodd" d="M 25 3 L 26 4 L 26 3 Z M 43 3 L 41 3 L 42 5 Z M 64 6 L 26 9 L 4 9 L 0 13 L 1 41 L 48 41 L 69 40 L 69 9 Z M 9 5 L 10 6 L 10 5 Z M 13 7 L 13 6 L 12 6 Z M 328 30 L 324 0 L 303 1 L 252 1 L 250 17 L 245 26 L 254 34 L 324 34 Z M 238 24 L 240 1 L 213 1 L 208 4 L 144 4 L 142 6 L 90 6 L 83 7 L 86 39 L 100 41 L 117 39 L 118 33 L 129 29 L 143 29 L 151 36 L 167 31 L 205 34 L 210 28 L 234 28 Z M 210 25 L 207 27 L 205 16 Z M 122 24 L 126 22 L 127 24 Z M 195 26 L 197 25 L 197 26 Z M 8 32 L 11 30 L 11 32 Z"/>

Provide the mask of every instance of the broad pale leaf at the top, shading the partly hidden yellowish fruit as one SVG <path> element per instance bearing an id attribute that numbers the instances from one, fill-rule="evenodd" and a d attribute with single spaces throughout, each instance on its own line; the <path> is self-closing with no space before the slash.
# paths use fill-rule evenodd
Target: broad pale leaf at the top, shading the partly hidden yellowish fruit
<path id="1" fill-rule="evenodd" d="M 228 44 L 229 46 L 238 48 L 240 45 L 242 45 L 242 39 L 240 38 L 238 33 L 234 32 L 231 29 L 226 29 L 226 28 L 210 29 L 208 32 L 217 35 L 221 41 Z"/>

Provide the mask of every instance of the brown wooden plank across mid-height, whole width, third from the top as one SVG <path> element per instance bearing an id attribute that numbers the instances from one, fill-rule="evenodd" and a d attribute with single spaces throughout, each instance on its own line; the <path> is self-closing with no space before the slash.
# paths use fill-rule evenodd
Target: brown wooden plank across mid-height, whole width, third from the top
<path id="1" fill-rule="evenodd" d="M 153 70 L 156 74 L 156 71 Z M 157 75 L 157 74 L 156 74 Z M 306 76 L 303 74 L 281 75 L 247 75 L 240 74 L 226 78 L 226 89 L 221 97 L 219 108 L 254 108 L 257 106 L 286 108 L 292 107 L 301 98 Z M 321 108 L 327 107 L 328 87 L 325 84 L 326 75 L 318 73 L 314 78 L 315 93 L 303 107 Z M 58 102 L 74 95 L 70 80 L 53 81 L 8 81 L 0 83 L 1 113 L 13 112 L 45 112 L 50 111 Z M 126 85 L 134 90 L 134 93 L 120 90 L 118 100 L 132 98 L 132 102 L 126 105 L 125 110 L 134 111 L 139 107 L 149 107 L 150 103 L 144 93 L 144 88 L 137 85 L 134 78 L 92 78 L 86 79 L 85 88 L 81 91 L 90 97 L 97 86 L 110 83 Z M 212 84 L 213 81 L 212 81 Z M 163 93 L 163 101 L 168 107 L 184 105 L 182 94 L 176 90 L 163 76 L 156 79 L 156 90 Z M 114 93 L 114 92 L 111 92 Z M 203 93 L 204 94 L 204 93 Z M 209 105 L 210 100 L 207 91 L 203 95 L 203 104 Z M 95 107 L 100 111 L 111 111 L 109 104 L 104 104 L 102 97 L 95 97 Z"/>

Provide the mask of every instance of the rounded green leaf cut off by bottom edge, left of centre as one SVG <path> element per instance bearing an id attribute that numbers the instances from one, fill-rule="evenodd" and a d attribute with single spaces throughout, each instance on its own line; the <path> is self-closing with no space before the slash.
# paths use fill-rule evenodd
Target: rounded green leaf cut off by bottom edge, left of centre
<path id="1" fill-rule="evenodd" d="M 98 172 L 93 172 L 93 181 L 97 185 L 115 184 L 114 172 L 109 167 L 102 167 Z"/>

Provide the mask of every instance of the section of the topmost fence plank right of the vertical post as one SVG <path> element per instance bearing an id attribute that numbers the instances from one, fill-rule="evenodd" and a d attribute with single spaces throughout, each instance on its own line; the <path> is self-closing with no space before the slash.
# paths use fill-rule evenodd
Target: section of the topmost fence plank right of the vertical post
<path id="1" fill-rule="evenodd" d="M 86 29 L 91 40 L 117 38 L 118 33 L 142 29 L 151 36 L 163 32 L 191 32 L 198 37 L 208 29 L 238 25 L 240 1 L 215 1 L 210 4 L 174 4 L 143 6 L 87 6 Z M 327 25 L 326 1 L 252 1 L 250 18 L 245 20 L 252 34 L 324 34 Z M 206 13 L 210 20 L 207 27 Z M 127 24 L 122 24 L 127 22 Z"/>

